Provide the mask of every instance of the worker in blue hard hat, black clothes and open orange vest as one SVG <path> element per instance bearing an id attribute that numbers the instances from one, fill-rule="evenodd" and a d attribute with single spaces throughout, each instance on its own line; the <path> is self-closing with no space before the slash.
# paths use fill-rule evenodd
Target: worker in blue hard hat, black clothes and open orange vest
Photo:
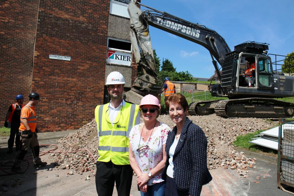
<path id="1" fill-rule="evenodd" d="M 13 147 L 15 135 L 16 135 L 15 137 L 16 151 L 21 150 L 21 142 L 20 142 L 20 136 L 18 132 L 19 132 L 19 126 L 20 126 L 21 108 L 23 108 L 25 105 L 23 104 L 24 97 L 22 95 L 17 95 L 15 99 L 16 99 L 16 103 L 11 104 L 9 106 L 9 109 L 5 118 L 5 123 L 4 123 L 4 127 L 6 128 L 8 127 L 8 124 L 11 123 L 7 154 L 12 153 L 12 147 Z"/>

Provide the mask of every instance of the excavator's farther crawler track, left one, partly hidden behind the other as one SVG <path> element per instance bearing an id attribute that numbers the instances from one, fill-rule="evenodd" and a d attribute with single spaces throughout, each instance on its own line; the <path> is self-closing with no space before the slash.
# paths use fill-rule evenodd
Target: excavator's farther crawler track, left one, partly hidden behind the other
<path id="1" fill-rule="evenodd" d="M 200 102 L 192 102 L 189 105 L 188 112 L 190 115 L 209 115 L 214 113 L 214 105 L 213 103 L 218 102 L 218 100 L 210 100 L 210 101 L 200 101 Z M 202 105 L 204 104 L 204 105 Z"/>

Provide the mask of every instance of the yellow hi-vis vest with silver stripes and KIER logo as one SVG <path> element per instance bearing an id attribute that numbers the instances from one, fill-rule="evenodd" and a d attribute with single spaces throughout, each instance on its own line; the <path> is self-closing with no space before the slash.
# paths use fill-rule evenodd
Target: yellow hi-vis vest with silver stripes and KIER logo
<path id="1" fill-rule="evenodd" d="M 110 122 L 108 108 L 109 103 L 97 105 L 95 109 L 95 120 L 99 134 L 99 158 L 97 161 L 109 162 L 111 160 L 116 165 L 129 165 L 128 136 L 131 128 L 140 123 L 139 105 L 125 102 L 125 106 L 122 106 L 121 112 L 117 114 L 114 121 L 117 123 L 113 126 L 108 123 Z"/>

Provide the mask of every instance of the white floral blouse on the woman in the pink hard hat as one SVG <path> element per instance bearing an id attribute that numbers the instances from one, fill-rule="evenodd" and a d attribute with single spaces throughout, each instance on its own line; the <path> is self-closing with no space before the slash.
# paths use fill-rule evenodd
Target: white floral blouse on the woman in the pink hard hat
<path id="1" fill-rule="evenodd" d="M 167 135 L 171 128 L 164 123 L 159 123 L 158 127 L 153 131 L 151 137 L 149 138 L 149 142 L 148 140 L 146 142 L 143 141 L 140 135 L 140 128 L 141 124 L 138 124 L 131 129 L 129 135 L 129 145 L 132 146 L 134 157 L 141 171 L 143 173 L 148 173 L 163 159 L 162 150 L 165 149 L 162 149 L 162 146 L 166 143 Z M 149 146 L 148 150 L 146 149 L 137 152 L 139 147 L 147 145 L 147 143 Z M 159 174 L 152 177 L 147 182 L 147 185 L 153 185 L 162 181 L 164 180 L 161 178 L 161 174 Z"/>

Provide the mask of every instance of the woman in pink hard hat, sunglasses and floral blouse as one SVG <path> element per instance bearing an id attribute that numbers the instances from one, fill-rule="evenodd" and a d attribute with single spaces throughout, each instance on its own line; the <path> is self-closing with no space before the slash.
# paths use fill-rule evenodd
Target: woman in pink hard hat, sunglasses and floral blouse
<path id="1" fill-rule="evenodd" d="M 161 107 L 155 96 L 143 97 L 139 108 L 144 122 L 130 131 L 130 164 L 138 176 L 141 196 L 163 196 L 165 181 L 161 172 L 166 162 L 165 144 L 171 128 L 157 120 Z"/>

